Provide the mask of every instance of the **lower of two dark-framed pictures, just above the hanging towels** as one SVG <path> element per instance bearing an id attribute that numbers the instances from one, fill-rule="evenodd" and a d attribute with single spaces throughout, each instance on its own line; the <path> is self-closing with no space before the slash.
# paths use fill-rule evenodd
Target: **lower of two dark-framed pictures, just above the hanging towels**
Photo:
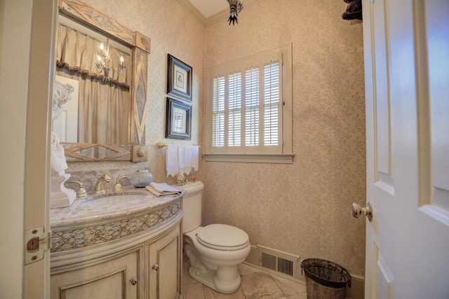
<path id="1" fill-rule="evenodd" d="M 166 138 L 192 138 L 192 104 L 167 97 Z"/>

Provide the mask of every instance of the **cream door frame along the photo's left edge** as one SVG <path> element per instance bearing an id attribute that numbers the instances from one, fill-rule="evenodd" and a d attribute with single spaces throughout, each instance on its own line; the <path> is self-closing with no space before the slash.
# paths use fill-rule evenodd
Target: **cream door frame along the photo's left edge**
<path id="1" fill-rule="evenodd" d="M 48 251 L 25 265 L 25 231 L 48 231 L 56 2 L 0 0 L 0 298 L 49 298 Z"/>

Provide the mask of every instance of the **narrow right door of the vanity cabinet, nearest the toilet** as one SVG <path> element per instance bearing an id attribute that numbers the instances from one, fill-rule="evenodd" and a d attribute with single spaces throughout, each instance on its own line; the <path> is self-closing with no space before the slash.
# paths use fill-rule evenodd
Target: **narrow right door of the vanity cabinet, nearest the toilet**
<path id="1" fill-rule="evenodd" d="M 149 298 L 181 297 L 182 235 L 176 225 L 168 235 L 148 243 Z"/>

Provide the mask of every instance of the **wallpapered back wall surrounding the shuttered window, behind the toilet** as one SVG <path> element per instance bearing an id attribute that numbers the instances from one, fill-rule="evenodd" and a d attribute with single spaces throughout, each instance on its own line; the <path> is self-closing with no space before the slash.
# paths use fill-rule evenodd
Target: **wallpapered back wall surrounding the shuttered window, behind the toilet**
<path id="1" fill-rule="evenodd" d="M 227 223 L 261 244 L 364 274 L 365 115 L 362 23 L 343 0 L 260 1 L 239 25 L 206 28 L 204 67 L 293 43 L 291 165 L 203 162 L 203 225 Z M 203 125 L 201 125 L 203 127 Z"/>

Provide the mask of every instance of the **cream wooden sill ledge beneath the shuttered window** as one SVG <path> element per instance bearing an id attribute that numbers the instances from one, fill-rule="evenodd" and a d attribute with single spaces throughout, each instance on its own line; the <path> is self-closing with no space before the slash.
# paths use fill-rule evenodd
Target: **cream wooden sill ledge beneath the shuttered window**
<path id="1" fill-rule="evenodd" d="M 204 153 L 206 162 L 247 162 L 292 164 L 294 153 Z"/>

